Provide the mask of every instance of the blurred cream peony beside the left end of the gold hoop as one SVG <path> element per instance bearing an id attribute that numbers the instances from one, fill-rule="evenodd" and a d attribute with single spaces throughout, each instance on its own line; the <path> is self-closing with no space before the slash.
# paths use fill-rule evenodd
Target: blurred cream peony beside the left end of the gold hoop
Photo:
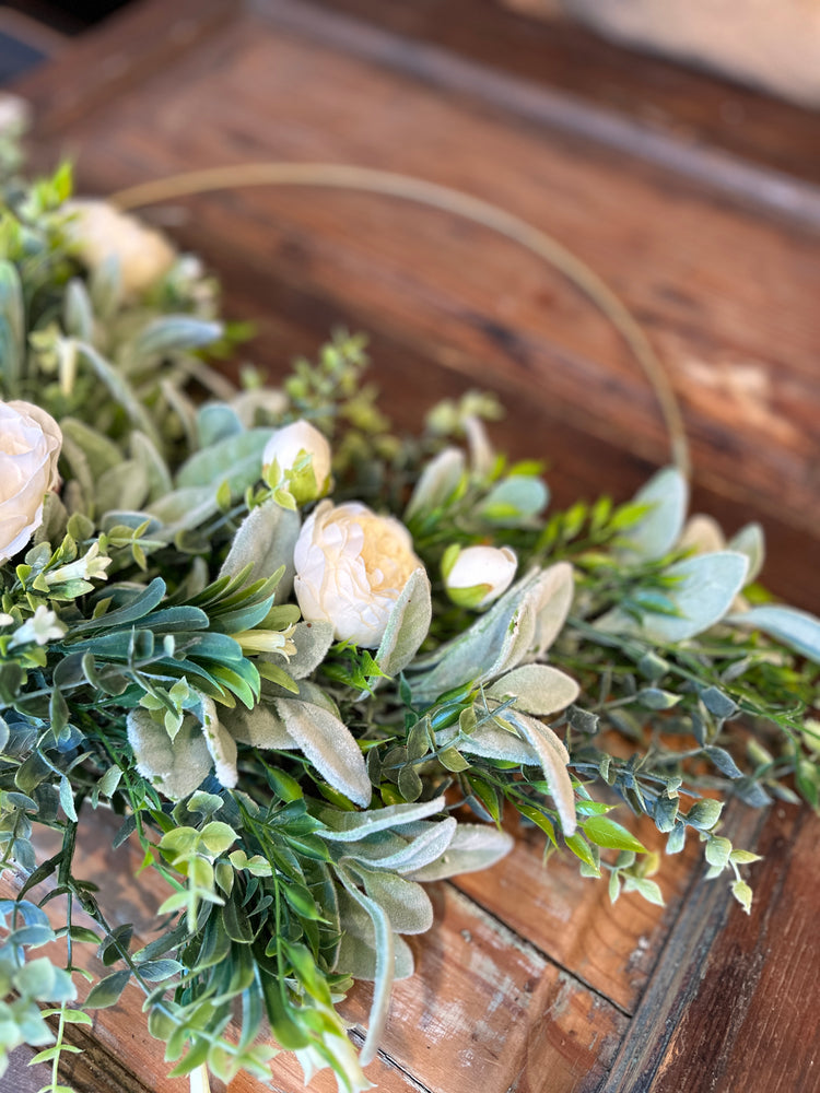
<path id="1" fill-rule="evenodd" d="M 176 261 L 176 250 L 164 235 L 107 201 L 73 200 L 63 208 L 73 214 L 67 232 L 80 259 L 95 270 L 116 258 L 127 295 L 150 289 Z"/>

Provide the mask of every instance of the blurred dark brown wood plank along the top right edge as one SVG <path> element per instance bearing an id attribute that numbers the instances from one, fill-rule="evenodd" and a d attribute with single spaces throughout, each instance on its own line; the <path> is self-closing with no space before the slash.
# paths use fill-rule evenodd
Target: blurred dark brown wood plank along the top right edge
<path id="1" fill-rule="evenodd" d="M 544 17 L 535 20 L 507 10 L 504 0 L 318 2 L 391 32 L 406 49 L 419 42 L 447 50 L 490 73 L 635 122 L 681 150 L 719 150 L 820 183 L 816 111 L 605 42 L 567 19 L 559 3 L 549 11 L 544 3 Z"/>

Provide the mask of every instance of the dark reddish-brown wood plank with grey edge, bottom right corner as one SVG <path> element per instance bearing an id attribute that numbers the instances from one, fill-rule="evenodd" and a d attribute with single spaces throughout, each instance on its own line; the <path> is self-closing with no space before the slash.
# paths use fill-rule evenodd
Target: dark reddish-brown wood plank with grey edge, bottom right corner
<path id="1" fill-rule="evenodd" d="M 734 908 L 728 925 L 719 917 L 715 932 L 714 904 L 699 925 L 702 905 L 692 902 L 681 920 L 690 945 L 672 954 L 670 942 L 666 968 L 653 983 L 652 999 L 647 995 L 645 1020 L 640 1014 L 630 1030 L 605 1093 L 820 1089 L 819 839 L 820 818 L 777 806 L 758 842 L 764 860 L 752 873 L 751 915 Z M 670 969 L 692 976 L 690 998 L 696 990 L 694 1004 L 677 996 L 683 1004 L 672 1023 L 661 1001 Z"/>

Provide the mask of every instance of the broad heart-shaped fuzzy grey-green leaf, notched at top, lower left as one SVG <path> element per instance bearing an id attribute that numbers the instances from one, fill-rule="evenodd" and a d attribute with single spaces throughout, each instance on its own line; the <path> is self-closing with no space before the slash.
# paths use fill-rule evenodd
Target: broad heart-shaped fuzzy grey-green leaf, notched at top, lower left
<path id="1" fill-rule="evenodd" d="M 192 794 L 208 776 L 211 754 L 194 718 L 185 719 L 173 743 L 164 726 L 140 706 L 129 710 L 126 724 L 137 769 L 171 800 Z"/>

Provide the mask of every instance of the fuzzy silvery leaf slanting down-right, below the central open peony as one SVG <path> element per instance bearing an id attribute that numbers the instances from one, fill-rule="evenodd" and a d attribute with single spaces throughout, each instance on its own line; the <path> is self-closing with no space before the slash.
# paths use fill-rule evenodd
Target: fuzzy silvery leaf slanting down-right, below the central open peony
<path id="1" fill-rule="evenodd" d="M 364 757 L 347 725 L 323 706 L 301 698 L 278 698 L 276 710 L 319 774 L 356 804 L 366 807 L 372 796 Z"/>

